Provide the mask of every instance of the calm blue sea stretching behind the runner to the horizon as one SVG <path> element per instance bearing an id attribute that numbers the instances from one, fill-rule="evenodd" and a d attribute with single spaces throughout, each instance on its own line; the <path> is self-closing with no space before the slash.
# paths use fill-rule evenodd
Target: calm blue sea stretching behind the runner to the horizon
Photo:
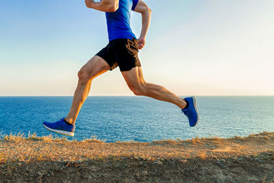
<path id="1" fill-rule="evenodd" d="M 0 97 L 0 133 L 48 135 L 42 121 L 65 117 L 73 97 Z M 88 97 L 75 136 L 106 142 L 151 142 L 200 136 L 248 136 L 274 132 L 274 97 L 197 97 L 200 121 L 189 127 L 177 106 L 148 97 Z M 55 134 L 54 134 L 55 135 Z M 58 134 L 58 136 L 62 136 Z"/>

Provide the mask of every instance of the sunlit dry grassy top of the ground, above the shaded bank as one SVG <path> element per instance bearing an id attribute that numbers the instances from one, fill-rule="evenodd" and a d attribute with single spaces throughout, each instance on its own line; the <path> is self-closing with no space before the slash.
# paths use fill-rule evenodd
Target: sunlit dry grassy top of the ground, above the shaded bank
<path id="1" fill-rule="evenodd" d="M 115 142 L 105 143 L 97 136 L 83 141 L 69 141 L 65 137 L 53 135 L 37 136 L 36 133 L 25 136 L 23 133 L 9 134 L 0 140 L 0 161 L 21 160 L 85 160 L 105 157 L 134 157 L 146 160 L 157 158 L 193 158 L 202 159 L 216 156 L 232 157 L 238 154 L 259 154 L 274 149 L 274 133 L 262 132 L 247 137 L 199 138 L 186 141 L 165 139 L 152 143 Z M 247 151 L 248 149 L 248 151 Z M 4 151 L 3 151 L 4 150 Z M 42 154 L 42 155 L 41 155 Z M 73 156 L 68 155 L 73 154 Z"/>

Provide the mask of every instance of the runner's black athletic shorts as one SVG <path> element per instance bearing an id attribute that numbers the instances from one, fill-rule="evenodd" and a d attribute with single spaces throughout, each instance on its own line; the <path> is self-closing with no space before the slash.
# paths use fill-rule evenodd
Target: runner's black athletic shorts
<path id="1" fill-rule="evenodd" d="M 111 40 L 96 56 L 108 62 L 110 71 L 117 66 L 119 66 L 121 72 L 141 66 L 138 58 L 138 43 L 136 38 Z"/>

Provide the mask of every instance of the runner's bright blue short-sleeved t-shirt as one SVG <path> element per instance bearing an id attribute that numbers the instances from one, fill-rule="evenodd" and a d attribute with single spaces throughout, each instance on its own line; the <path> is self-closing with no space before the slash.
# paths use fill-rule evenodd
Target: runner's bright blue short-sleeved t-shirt
<path id="1" fill-rule="evenodd" d="M 115 12 L 105 12 L 108 25 L 108 39 L 136 38 L 130 27 L 130 14 L 136 8 L 138 0 L 119 0 Z"/>

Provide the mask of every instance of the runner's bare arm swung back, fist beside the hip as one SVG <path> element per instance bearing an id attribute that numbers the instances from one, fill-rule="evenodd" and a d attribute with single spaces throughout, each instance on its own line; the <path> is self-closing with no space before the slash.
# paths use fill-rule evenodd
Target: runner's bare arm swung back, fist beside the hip
<path id="1" fill-rule="evenodd" d="M 142 49 L 145 46 L 145 37 L 149 29 L 151 10 L 144 1 L 139 0 L 134 11 L 142 14 L 142 32 L 138 38 L 138 48 Z"/>

